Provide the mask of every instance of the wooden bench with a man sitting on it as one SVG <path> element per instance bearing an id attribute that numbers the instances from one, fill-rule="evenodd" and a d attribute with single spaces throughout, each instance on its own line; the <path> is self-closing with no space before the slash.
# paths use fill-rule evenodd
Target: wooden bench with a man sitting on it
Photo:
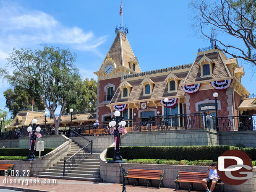
<path id="1" fill-rule="evenodd" d="M 191 187 L 193 189 L 193 183 L 201 183 L 202 179 L 206 179 L 206 173 L 201 172 L 186 172 L 186 171 L 179 171 L 178 176 L 176 176 L 175 184 L 177 190 L 177 186 L 179 185 L 180 188 L 180 182 L 189 183 L 189 191 L 191 190 Z M 217 184 L 220 184 L 221 191 L 224 192 L 224 183 L 219 180 Z"/>

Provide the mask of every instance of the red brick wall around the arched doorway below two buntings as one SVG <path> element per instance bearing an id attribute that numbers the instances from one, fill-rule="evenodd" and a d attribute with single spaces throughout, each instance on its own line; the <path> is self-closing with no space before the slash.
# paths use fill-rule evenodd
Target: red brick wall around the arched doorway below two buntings
<path id="1" fill-rule="evenodd" d="M 221 109 L 218 111 L 219 117 L 226 117 L 228 116 L 227 111 L 227 95 L 225 90 L 217 90 L 217 89 L 209 89 L 209 90 L 202 90 L 198 91 L 192 95 L 190 95 L 190 110 L 191 113 L 198 113 L 196 112 L 196 103 L 199 101 L 205 101 L 206 99 L 214 100 L 213 93 L 217 92 L 219 96 L 217 97 L 217 100 L 220 101 Z"/>

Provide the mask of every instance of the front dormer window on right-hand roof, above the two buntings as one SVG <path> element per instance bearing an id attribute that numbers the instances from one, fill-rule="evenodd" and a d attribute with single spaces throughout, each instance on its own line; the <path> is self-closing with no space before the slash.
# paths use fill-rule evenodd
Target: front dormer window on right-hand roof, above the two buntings
<path id="1" fill-rule="evenodd" d="M 201 78 L 211 77 L 213 69 L 213 61 L 205 55 L 197 62 L 201 68 Z"/>

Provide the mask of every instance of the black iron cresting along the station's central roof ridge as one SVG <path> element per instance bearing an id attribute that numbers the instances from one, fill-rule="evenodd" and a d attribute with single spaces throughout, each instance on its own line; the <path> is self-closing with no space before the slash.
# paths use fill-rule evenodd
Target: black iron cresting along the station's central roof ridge
<path id="1" fill-rule="evenodd" d="M 128 78 L 133 78 L 133 77 L 140 77 L 140 76 L 145 76 L 145 75 L 164 73 L 164 72 L 169 72 L 169 71 L 174 71 L 174 70 L 190 68 L 191 66 L 192 66 L 192 63 L 189 63 L 189 64 L 186 64 L 186 65 L 178 65 L 178 66 L 175 66 L 175 67 L 168 67 L 168 68 L 164 68 L 164 69 L 158 69 L 158 70 L 146 71 L 146 72 L 142 72 L 142 73 L 135 73 L 135 74 L 125 75 L 125 76 L 123 76 L 123 78 L 128 79 Z"/>

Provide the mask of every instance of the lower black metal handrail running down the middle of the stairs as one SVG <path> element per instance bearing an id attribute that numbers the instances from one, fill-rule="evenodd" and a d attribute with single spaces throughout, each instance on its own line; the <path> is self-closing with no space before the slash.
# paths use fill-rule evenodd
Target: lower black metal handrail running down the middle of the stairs
<path id="1" fill-rule="evenodd" d="M 71 170 L 79 162 L 83 161 L 84 158 L 91 153 L 92 153 L 92 140 L 86 146 L 78 150 L 78 152 L 73 154 L 73 156 L 71 156 L 67 160 L 64 159 L 63 176 L 65 176 L 65 174 L 68 173 L 69 170 Z"/>

